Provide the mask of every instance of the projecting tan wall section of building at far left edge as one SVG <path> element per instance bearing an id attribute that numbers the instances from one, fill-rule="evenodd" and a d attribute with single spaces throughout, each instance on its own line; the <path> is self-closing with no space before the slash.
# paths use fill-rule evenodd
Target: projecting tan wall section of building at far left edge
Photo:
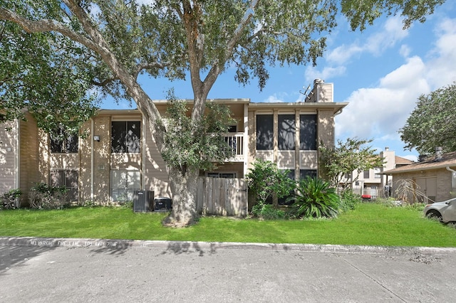
<path id="1" fill-rule="evenodd" d="M 21 189 L 20 203 L 38 181 L 38 127 L 31 115 L 0 123 L 0 195 Z"/>

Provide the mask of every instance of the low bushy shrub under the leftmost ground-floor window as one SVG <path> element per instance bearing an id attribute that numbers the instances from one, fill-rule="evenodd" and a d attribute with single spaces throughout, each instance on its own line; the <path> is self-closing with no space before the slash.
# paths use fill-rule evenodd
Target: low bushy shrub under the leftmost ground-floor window
<path id="1" fill-rule="evenodd" d="M 28 202 L 34 209 L 61 209 L 68 206 L 64 186 L 48 186 L 38 183 L 28 193 Z"/>

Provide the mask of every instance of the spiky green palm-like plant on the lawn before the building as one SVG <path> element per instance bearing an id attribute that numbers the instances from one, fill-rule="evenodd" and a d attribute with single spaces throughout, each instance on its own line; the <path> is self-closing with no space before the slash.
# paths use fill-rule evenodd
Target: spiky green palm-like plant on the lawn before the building
<path id="1" fill-rule="evenodd" d="M 338 215 L 341 197 L 335 188 L 322 179 L 310 178 L 299 181 L 291 212 L 298 218 L 333 218 Z"/>

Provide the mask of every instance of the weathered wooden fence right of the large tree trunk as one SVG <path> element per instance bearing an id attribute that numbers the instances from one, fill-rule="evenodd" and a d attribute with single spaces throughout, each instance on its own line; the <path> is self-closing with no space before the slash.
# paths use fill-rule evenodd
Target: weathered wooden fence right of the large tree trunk
<path id="1" fill-rule="evenodd" d="M 244 179 L 198 179 L 198 213 L 218 216 L 247 216 L 247 207 L 247 184 Z"/>

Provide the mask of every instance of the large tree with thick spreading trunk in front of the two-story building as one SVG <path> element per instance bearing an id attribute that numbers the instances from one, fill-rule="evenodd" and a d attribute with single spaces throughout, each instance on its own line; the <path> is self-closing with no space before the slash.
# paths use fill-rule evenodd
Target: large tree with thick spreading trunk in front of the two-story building
<path id="1" fill-rule="evenodd" d="M 209 90 L 228 66 L 236 68 L 239 83 L 257 78 L 261 89 L 269 77 L 268 65 L 315 64 L 339 11 L 353 30 L 363 29 L 383 13 L 400 13 L 407 27 L 424 21 L 444 1 L 155 0 L 139 5 L 135 0 L 0 0 L 0 20 L 16 23 L 27 33 L 70 39 L 82 52 L 88 51 L 93 83 L 116 97 L 133 98 L 164 154 L 167 128 L 138 75 L 171 80 L 189 75 L 196 126 Z M 196 134 L 198 128 L 193 131 Z M 194 184 L 199 174 L 198 166 L 185 168 L 168 164 L 170 220 L 181 225 L 195 218 Z"/>

